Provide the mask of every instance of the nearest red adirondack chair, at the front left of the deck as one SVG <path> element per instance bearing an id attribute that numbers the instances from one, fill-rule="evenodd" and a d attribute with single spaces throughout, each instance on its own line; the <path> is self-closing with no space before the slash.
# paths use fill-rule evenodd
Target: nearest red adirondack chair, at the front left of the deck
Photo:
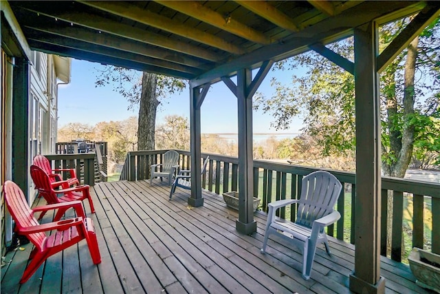
<path id="1" fill-rule="evenodd" d="M 34 250 L 30 254 L 31 261 L 21 277 L 21 284 L 28 281 L 47 258 L 83 239 L 87 241 L 94 264 L 101 262 L 94 223 L 90 218 L 85 218 L 83 205 L 80 201 L 51 204 L 30 209 L 23 191 L 17 184 L 8 180 L 5 182 L 3 189 L 6 205 L 15 221 L 15 231 L 20 235 L 25 235 L 34 244 Z M 71 207 L 75 209 L 77 217 L 59 220 L 64 212 Z M 36 211 L 53 209 L 58 209 L 54 222 L 39 224 L 34 218 Z M 53 233 L 47 236 L 45 231 L 53 231 Z"/>

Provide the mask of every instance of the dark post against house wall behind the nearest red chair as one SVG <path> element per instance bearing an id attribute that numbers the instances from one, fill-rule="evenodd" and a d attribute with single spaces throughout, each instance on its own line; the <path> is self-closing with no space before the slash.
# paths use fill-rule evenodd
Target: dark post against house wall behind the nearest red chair
<path id="1" fill-rule="evenodd" d="M 29 196 L 29 64 L 15 58 L 12 74 L 12 180 Z"/>

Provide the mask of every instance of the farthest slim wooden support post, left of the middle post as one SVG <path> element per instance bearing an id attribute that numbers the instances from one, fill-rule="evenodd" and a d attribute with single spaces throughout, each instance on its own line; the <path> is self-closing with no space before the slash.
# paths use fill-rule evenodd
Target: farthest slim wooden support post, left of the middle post
<path id="1" fill-rule="evenodd" d="M 192 207 L 201 207 L 201 126 L 200 107 L 203 99 L 208 93 L 210 84 L 201 87 L 190 86 L 190 138 L 191 138 L 191 197 L 188 204 Z M 201 90 L 201 91 L 200 91 Z"/>

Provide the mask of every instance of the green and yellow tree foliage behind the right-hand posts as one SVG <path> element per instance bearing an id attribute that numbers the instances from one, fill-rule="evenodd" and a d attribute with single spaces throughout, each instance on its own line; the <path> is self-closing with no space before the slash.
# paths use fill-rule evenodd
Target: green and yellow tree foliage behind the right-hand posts
<path id="1" fill-rule="evenodd" d="M 380 48 L 393 41 L 408 20 L 401 19 L 381 28 Z M 417 42 L 412 43 L 418 44 L 415 50 L 417 71 L 406 63 L 409 54 L 405 50 L 381 75 L 382 160 L 391 174 L 399 165 L 406 165 L 406 169 L 409 161 L 404 162 L 402 153 L 410 154 L 413 143 L 417 158 L 432 153 L 439 155 L 439 31 L 437 19 L 421 33 Z M 327 47 L 353 60 L 353 38 Z M 293 116 L 302 115 L 306 126 L 303 132 L 316 138 L 317 144 L 322 146 L 323 156 L 351 157 L 355 149 L 353 76 L 313 52 L 278 62 L 273 70 L 301 67 L 307 73 L 292 76 L 289 85 L 272 79 L 275 94 L 266 97 L 257 93 L 254 108 L 273 114 L 272 126 L 276 129 L 286 129 Z M 412 78 L 415 83 L 408 75 L 411 70 L 415 72 Z"/>

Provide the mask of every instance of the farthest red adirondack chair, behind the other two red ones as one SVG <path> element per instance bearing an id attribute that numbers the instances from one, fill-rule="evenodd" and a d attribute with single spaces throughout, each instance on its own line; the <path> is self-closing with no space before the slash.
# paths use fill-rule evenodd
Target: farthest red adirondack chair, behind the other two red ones
<path id="1" fill-rule="evenodd" d="M 76 178 L 75 169 L 52 169 L 50 166 L 50 161 L 43 155 L 35 156 L 33 163 L 37 167 L 41 167 L 41 169 L 46 172 L 46 174 L 49 176 L 52 187 L 54 188 L 63 187 L 66 189 L 73 185 L 80 185 L 78 178 Z M 70 178 L 63 180 L 63 177 L 60 174 L 63 172 L 68 172 Z"/>

